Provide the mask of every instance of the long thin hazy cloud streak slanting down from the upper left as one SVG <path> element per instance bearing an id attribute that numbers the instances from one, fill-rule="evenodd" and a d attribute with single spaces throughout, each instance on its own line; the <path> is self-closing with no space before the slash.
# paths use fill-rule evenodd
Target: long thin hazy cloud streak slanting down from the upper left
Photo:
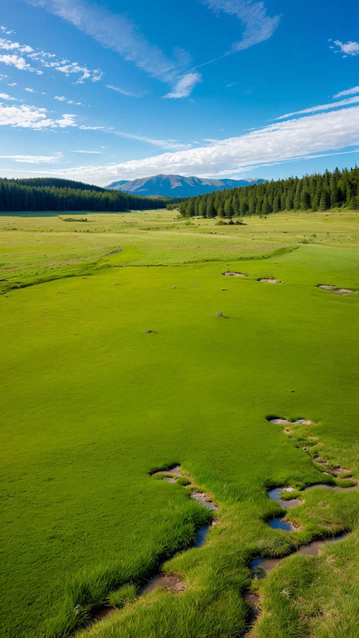
<path id="1" fill-rule="evenodd" d="M 160 47 L 146 40 L 135 23 L 124 13 L 112 13 L 105 6 L 84 0 L 25 1 L 34 6 L 42 6 L 50 13 L 67 20 L 100 42 L 103 47 L 116 51 L 160 82 L 174 87 L 184 75 L 183 56 L 179 62 L 165 56 Z"/>

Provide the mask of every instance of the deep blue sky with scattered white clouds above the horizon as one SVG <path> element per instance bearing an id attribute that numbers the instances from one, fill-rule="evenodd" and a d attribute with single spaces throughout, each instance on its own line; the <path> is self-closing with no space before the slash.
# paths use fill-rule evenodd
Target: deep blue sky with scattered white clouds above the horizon
<path id="1" fill-rule="evenodd" d="M 5 0 L 1 20 L 3 177 L 359 163 L 354 0 Z"/>

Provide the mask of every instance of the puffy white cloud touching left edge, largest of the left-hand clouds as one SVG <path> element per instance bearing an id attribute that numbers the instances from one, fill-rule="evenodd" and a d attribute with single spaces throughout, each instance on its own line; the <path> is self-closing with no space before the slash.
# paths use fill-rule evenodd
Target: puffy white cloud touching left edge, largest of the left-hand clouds
<path id="1" fill-rule="evenodd" d="M 65 128 L 77 126 L 74 118 L 76 115 L 64 114 L 62 118 L 50 119 L 46 116 L 46 108 L 21 106 L 4 106 L 0 103 L 0 126 L 13 126 L 21 128 Z"/>

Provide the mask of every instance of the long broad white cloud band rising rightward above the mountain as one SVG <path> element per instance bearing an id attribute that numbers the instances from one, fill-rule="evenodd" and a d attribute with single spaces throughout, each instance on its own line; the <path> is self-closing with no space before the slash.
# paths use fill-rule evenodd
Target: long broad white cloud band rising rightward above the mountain
<path id="1" fill-rule="evenodd" d="M 307 115 L 275 122 L 240 137 L 208 147 L 166 152 L 146 159 L 112 166 L 83 166 L 56 171 L 56 175 L 107 184 L 111 179 L 134 179 L 158 173 L 180 175 L 226 175 L 252 165 L 301 159 L 310 154 L 339 151 L 359 144 L 359 107 Z"/>

